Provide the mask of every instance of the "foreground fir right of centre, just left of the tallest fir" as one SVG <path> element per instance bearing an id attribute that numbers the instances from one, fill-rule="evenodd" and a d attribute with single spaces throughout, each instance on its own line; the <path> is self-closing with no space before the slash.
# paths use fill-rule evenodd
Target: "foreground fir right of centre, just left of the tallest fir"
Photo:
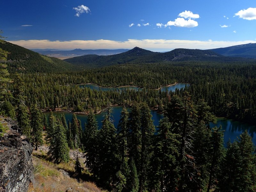
<path id="1" fill-rule="evenodd" d="M 149 174 L 151 191 L 175 191 L 177 187 L 180 136 L 172 133 L 171 127 L 167 117 L 160 120 Z"/>

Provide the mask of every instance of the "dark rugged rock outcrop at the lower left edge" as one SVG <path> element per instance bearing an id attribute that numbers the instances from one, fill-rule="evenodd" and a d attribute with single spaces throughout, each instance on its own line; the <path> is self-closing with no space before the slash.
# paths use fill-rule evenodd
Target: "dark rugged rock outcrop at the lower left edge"
<path id="1" fill-rule="evenodd" d="M 0 138 L 0 192 L 26 192 L 34 182 L 33 148 L 15 121 L 7 118 L 3 123 L 9 130 Z"/>

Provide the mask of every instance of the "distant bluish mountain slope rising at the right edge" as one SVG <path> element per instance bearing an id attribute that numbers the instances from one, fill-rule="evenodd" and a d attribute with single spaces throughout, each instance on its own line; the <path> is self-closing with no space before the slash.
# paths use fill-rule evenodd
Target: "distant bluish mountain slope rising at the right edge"
<path id="1" fill-rule="evenodd" d="M 235 45 L 231 47 L 209 49 L 224 56 L 256 58 L 256 43 Z"/>

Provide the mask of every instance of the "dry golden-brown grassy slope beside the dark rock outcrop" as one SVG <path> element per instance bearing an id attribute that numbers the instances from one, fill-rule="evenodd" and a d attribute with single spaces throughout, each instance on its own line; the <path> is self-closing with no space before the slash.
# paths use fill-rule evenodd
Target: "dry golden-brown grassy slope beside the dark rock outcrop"
<path id="1" fill-rule="evenodd" d="M 42 159 L 45 156 L 42 151 L 33 152 L 35 184 L 29 187 L 28 192 L 65 192 L 70 187 L 78 192 L 102 192 L 91 182 L 79 183 L 77 179 L 63 176 L 59 169 L 65 170 L 71 176 L 75 175 L 74 162 L 53 164 Z"/>

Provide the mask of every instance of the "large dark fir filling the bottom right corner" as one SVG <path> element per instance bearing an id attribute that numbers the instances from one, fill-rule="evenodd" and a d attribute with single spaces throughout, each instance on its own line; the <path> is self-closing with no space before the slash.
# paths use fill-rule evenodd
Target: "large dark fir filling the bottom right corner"
<path id="1" fill-rule="evenodd" d="M 228 143 L 218 191 L 255 191 L 255 162 L 252 138 L 245 131 L 240 139 Z"/>

